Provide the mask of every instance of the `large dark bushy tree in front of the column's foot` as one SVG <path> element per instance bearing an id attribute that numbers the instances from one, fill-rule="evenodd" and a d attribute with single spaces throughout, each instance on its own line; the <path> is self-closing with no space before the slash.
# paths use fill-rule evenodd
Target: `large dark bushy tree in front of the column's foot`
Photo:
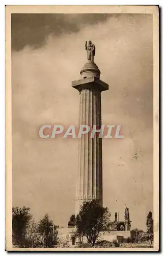
<path id="1" fill-rule="evenodd" d="M 108 227 L 110 217 L 111 213 L 99 200 L 85 201 L 76 216 L 76 235 L 82 239 L 87 237 L 88 243 L 94 246 L 100 231 Z"/>

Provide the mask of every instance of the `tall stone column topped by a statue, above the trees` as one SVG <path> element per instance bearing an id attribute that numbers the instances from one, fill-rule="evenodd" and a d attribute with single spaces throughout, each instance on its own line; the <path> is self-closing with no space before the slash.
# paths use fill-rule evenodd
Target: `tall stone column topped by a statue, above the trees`
<path id="1" fill-rule="evenodd" d="M 101 92 L 108 90 L 108 84 L 100 80 L 95 45 L 86 41 L 85 49 L 88 61 L 80 71 L 81 79 L 73 81 L 72 87 L 80 94 L 79 125 L 89 125 L 96 134 L 90 138 L 87 133 L 79 139 L 75 214 L 85 200 L 98 199 L 102 205 Z"/>

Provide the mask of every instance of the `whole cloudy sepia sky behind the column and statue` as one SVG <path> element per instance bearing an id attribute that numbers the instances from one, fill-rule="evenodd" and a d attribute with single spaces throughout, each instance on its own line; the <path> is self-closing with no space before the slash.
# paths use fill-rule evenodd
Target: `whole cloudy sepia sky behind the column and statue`
<path id="1" fill-rule="evenodd" d="M 75 211 L 78 139 L 42 139 L 43 124 L 78 126 L 85 41 L 96 46 L 102 124 L 124 139 L 102 140 L 103 206 L 131 228 L 153 211 L 153 17 L 151 14 L 12 14 L 12 201 L 67 227 Z"/>

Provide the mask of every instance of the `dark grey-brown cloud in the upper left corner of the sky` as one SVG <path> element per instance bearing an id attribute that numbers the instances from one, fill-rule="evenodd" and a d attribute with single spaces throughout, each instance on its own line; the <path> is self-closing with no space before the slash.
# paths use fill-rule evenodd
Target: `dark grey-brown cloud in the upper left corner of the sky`
<path id="1" fill-rule="evenodd" d="M 19 51 L 29 45 L 39 48 L 48 35 L 59 36 L 78 32 L 85 25 L 104 22 L 111 14 L 12 14 L 12 49 Z"/>

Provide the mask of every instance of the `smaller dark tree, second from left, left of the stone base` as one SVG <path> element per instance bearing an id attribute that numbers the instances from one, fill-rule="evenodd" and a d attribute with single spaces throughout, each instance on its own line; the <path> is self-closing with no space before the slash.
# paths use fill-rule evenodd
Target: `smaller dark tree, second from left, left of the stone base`
<path id="1" fill-rule="evenodd" d="M 45 248 L 52 248 L 57 245 L 58 239 L 58 231 L 57 227 L 53 225 L 53 221 L 49 218 L 48 214 L 45 214 L 43 219 L 39 221 L 38 225 L 39 233 L 43 236 L 44 246 Z"/>

